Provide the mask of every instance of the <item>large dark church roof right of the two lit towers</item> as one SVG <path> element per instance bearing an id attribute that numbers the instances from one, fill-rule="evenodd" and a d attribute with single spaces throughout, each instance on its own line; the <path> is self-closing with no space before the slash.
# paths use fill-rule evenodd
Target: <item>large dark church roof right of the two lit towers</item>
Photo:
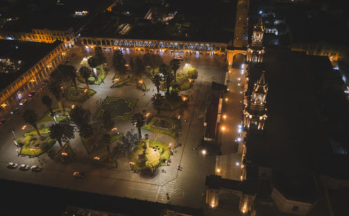
<path id="1" fill-rule="evenodd" d="M 266 71 L 268 117 L 264 134 L 248 134 L 246 160 L 252 166 L 278 170 L 276 187 L 284 196 L 312 200 L 313 157 L 328 142 L 322 133 L 309 58 L 304 52 L 267 48 L 263 63 L 251 65 L 250 89 Z"/>

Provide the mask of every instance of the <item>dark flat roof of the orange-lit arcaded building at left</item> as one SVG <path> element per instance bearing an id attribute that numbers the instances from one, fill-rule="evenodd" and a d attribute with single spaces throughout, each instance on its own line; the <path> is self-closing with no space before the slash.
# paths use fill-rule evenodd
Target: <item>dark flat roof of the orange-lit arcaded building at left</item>
<path id="1" fill-rule="evenodd" d="M 30 41 L 11 41 L 0 39 L 0 59 L 21 61 L 20 70 L 17 73 L 0 73 L 0 90 L 4 89 L 31 66 L 56 48 L 61 41 L 54 43 L 37 43 Z"/>

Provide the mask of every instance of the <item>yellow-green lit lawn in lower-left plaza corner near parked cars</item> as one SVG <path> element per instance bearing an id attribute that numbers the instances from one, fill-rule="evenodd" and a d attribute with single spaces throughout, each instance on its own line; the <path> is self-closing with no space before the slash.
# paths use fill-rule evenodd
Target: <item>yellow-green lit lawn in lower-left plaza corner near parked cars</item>
<path id="1" fill-rule="evenodd" d="M 55 139 L 51 139 L 48 136 L 48 129 L 39 129 L 39 131 L 41 137 L 39 137 L 38 134 L 36 134 L 36 130 L 34 130 L 24 134 L 22 138 L 17 138 L 17 143 L 22 143 L 20 154 L 39 156 L 49 150 L 56 143 Z"/>

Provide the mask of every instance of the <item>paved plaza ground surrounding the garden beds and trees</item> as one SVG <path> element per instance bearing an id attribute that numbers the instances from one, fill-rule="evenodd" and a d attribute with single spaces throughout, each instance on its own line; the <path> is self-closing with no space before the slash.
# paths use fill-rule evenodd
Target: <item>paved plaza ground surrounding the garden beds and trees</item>
<path id="1" fill-rule="evenodd" d="M 89 53 L 90 52 L 90 53 Z M 93 55 L 91 50 L 85 50 L 82 46 L 75 46 L 66 53 L 69 57 L 69 65 L 75 66 L 77 69 L 80 66 L 86 64 L 84 57 Z M 75 53 L 73 57 L 73 53 Z M 143 52 L 144 53 L 144 52 Z M 125 53 L 124 57 L 126 62 L 129 62 L 130 57 L 142 56 L 142 52 L 129 52 Z M 156 110 L 151 105 L 151 96 L 156 94 L 156 87 L 151 80 L 144 76 L 144 85 L 147 86 L 149 91 L 142 92 L 137 89 L 132 83 L 130 85 L 123 85 L 118 88 L 111 88 L 114 84 L 112 78 L 114 77 L 114 69 L 110 65 L 112 53 L 105 51 L 108 59 L 108 67 L 110 70 L 107 72 L 107 77 L 101 85 L 90 85 L 90 89 L 96 93 L 86 101 L 70 101 L 62 98 L 64 107 L 74 107 L 81 105 L 84 108 L 88 108 L 92 115 L 98 112 L 99 108 L 96 106 L 96 102 L 99 100 L 105 100 L 107 96 L 120 99 L 134 99 L 137 100 L 136 105 L 131 110 L 125 110 L 122 113 L 150 113 L 149 117 L 156 115 Z M 172 53 L 163 53 L 161 55 L 165 63 L 170 62 L 170 59 L 174 58 Z M 36 110 L 39 115 L 47 113 L 45 106 L 37 106 L 40 102 L 41 96 L 49 94 L 47 87 L 40 90 L 36 96 L 29 101 L 25 108 L 19 110 L 17 115 L 13 117 L 10 122 L 7 122 L 5 127 L 1 129 L 1 137 L 3 142 L 1 143 L 1 174 L 3 178 L 8 180 L 21 180 L 24 182 L 31 182 L 40 185 L 51 185 L 54 187 L 77 189 L 87 192 L 96 192 L 98 194 L 109 194 L 112 196 L 135 198 L 147 201 L 157 201 L 161 203 L 168 203 L 168 197 L 170 196 L 170 203 L 181 206 L 191 206 L 193 208 L 200 208 L 203 204 L 205 196 L 205 177 L 214 173 L 215 159 L 212 156 L 203 156 L 198 150 L 193 150 L 193 147 L 200 145 L 200 138 L 203 133 L 203 120 L 205 117 L 205 108 L 207 96 L 209 95 L 211 81 L 224 82 L 225 78 L 225 58 L 217 55 L 188 55 L 184 56 L 186 61 L 190 62 L 195 69 L 198 70 L 198 79 L 194 82 L 193 87 L 184 92 L 180 92 L 182 95 L 190 96 L 191 100 L 188 102 L 188 108 L 181 114 L 181 132 L 178 136 L 178 140 L 168 134 L 158 133 L 156 140 L 172 145 L 174 147 L 177 143 L 181 143 L 179 147 L 174 148 L 174 154 L 170 156 L 171 162 L 169 166 L 159 166 L 154 175 L 149 178 L 142 173 L 134 173 L 131 171 L 130 164 L 126 159 L 118 159 L 117 168 L 98 167 L 92 159 L 100 158 L 107 154 L 105 148 L 98 149 L 94 152 L 88 153 L 80 136 L 75 132 L 75 138 L 69 141 L 69 145 L 75 154 L 73 161 L 69 163 L 61 164 L 57 161 L 53 161 L 47 154 L 42 154 L 39 157 L 20 157 L 16 150 L 17 147 L 13 143 L 12 137 L 16 138 L 22 136 L 26 130 L 31 131 L 32 127 L 26 125 L 26 129 L 22 129 L 25 124 L 22 120 L 22 113 L 27 109 Z M 184 62 L 181 62 L 181 67 L 184 66 Z M 77 87 L 85 88 L 86 85 L 77 82 Z M 161 91 L 162 92 L 162 91 Z M 163 92 L 162 92 L 163 93 Z M 54 101 L 54 100 L 53 100 Z M 54 101 L 53 108 L 57 107 Z M 144 111 L 145 110 L 145 111 Z M 178 117 L 179 110 L 174 111 L 162 111 L 161 116 L 165 117 Z M 184 122 L 185 120 L 185 122 Z M 42 122 L 45 127 L 53 123 Z M 40 123 L 41 124 L 41 123 Z M 115 127 L 119 133 L 126 133 L 136 128 L 130 120 L 116 121 Z M 13 129 L 14 133 L 9 133 L 8 129 Z M 152 131 L 142 129 L 142 135 L 149 134 L 151 140 L 155 135 Z M 171 143 L 171 144 L 170 144 Z M 111 144 L 113 147 L 115 143 Z M 56 143 L 53 150 L 59 150 L 59 145 Z M 31 175 L 32 173 L 24 173 L 19 170 L 9 170 L 5 164 L 8 161 L 13 161 L 17 164 L 29 164 L 40 165 L 43 167 L 41 173 L 38 175 Z M 205 166 L 203 166 L 205 164 Z M 181 166 L 181 170 L 177 169 L 177 165 Z M 165 170 L 165 173 L 161 172 Z M 73 178 L 74 171 L 84 171 L 87 173 L 87 177 L 82 180 L 76 180 Z M 99 185 L 98 187 L 95 187 Z"/>

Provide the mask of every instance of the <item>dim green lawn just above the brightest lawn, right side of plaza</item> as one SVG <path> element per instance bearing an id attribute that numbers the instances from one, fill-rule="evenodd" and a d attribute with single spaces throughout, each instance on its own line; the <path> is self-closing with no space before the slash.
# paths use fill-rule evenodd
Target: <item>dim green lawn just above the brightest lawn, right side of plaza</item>
<path id="1" fill-rule="evenodd" d="M 142 129 L 145 129 L 147 131 L 159 131 L 174 138 L 178 136 L 179 128 L 179 121 L 177 119 L 171 119 L 168 117 L 153 117 L 148 124 L 142 127 Z"/>

